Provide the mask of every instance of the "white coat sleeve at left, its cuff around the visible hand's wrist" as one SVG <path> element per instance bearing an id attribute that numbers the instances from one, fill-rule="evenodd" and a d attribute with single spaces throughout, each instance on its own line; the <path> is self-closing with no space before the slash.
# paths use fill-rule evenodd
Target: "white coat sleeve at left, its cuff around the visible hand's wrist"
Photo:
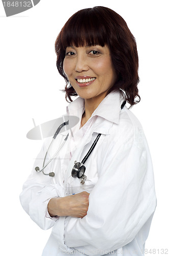
<path id="1" fill-rule="evenodd" d="M 42 229 L 49 229 L 57 221 L 57 218 L 47 218 L 47 204 L 51 198 L 59 197 L 62 194 L 62 188 L 58 184 L 51 183 L 51 177 L 45 176 L 35 171 L 36 166 L 42 166 L 46 146 L 43 145 L 41 152 L 35 160 L 32 174 L 23 184 L 23 190 L 20 194 L 20 202 L 23 209 L 31 219 Z M 47 169 L 46 172 L 50 172 Z"/>

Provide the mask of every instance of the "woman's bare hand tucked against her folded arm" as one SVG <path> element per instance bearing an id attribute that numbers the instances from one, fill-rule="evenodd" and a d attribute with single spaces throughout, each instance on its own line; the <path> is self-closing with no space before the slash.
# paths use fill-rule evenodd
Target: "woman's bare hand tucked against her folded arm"
<path id="1" fill-rule="evenodd" d="M 89 195 L 83 191 L 68 197 L 51 198 L 47 207 L 49 215 L 83 218 L 87 215 Z"/>

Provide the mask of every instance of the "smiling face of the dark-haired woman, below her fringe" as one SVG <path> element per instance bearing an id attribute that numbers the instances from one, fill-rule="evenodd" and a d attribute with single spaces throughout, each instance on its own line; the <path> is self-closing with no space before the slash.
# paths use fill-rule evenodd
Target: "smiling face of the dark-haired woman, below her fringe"
<path id="1" fill-rule="evenodd" d="M 83 99 L 103 99 L 116 81 L 116 72 L 107 46 L 66 48 L 64 72 Z"/>

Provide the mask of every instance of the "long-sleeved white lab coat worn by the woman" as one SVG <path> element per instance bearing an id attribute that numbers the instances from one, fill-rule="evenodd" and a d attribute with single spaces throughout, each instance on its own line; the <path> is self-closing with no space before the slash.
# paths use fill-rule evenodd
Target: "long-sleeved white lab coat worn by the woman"
<path id="1" fill-rule="evenodd" d="M 144 255 L 156 207 L 153 167 L 142 126 L 126 106 L 121 110 L 123 101 L 120 92 L 108 94 L 80 130 L 84 100 L 78 97 L 69 104 L 67 114 L 80 120 L 69 131 L 58 156 L 45 168 L 45 173 L 55 172 L 54 177 L 35 171 L 36 166 L 42 166 L 51 138 L 45 141 L 20 195 L 31 219 L 42 229 L 52 227 L 43 256 Z M 50 156 L 67 133 L 55 139 Z M 98 133 L 100 139 L 85 163 L 87 181 L 81 185 L 78 178 L 71 177 L 71 170 L 74 161 L 85 157 Z M 83 190 L 90 193 L 87 216 L 48 218 L 50 198 Z"/>

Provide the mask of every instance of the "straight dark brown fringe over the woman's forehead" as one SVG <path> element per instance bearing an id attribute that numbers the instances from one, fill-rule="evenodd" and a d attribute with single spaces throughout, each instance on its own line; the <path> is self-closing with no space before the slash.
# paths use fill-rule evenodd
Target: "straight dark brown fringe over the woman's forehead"
<path id="1" fill-rule="evenodd" d="M 83 47 L 107 44 L 106 31 L 101 23 L 101 18 L 92 10 L 82 10 L 83 13 L 75 13 L 62 30 L 62 46 Z"/>

